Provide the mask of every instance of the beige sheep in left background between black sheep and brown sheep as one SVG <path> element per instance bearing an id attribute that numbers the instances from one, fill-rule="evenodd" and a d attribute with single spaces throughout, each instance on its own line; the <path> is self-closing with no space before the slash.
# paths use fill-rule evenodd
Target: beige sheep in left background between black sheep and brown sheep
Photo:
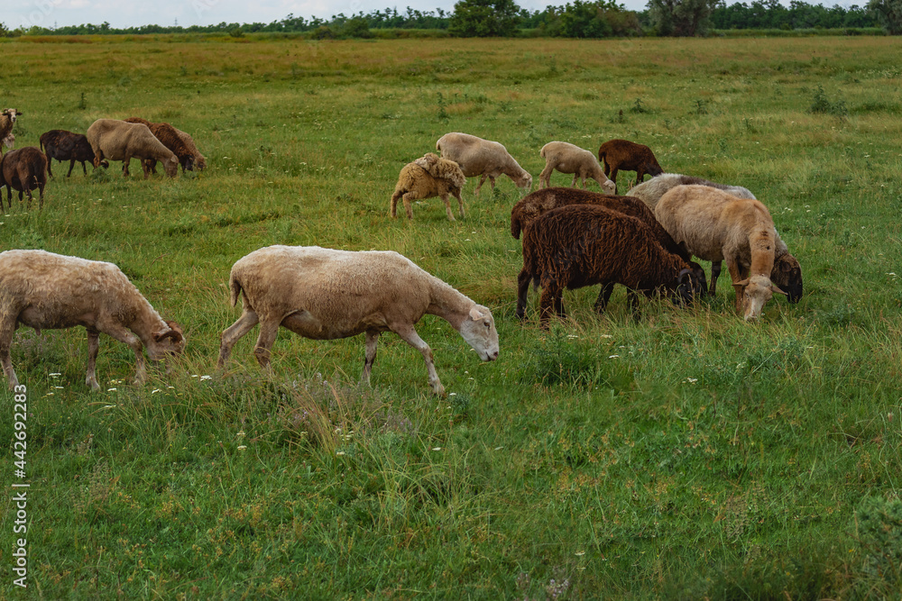
<path id="1" fill-rule="evenodd" d="M 157 159 L 162 161 L 166 175 L 175 178 L 179 175 L 179 159 L 154 137 L 151 130 L 143 123 L 125 123 L 115 119 L 97 119 L 87 128 L 87 141 L 94 150 L 94 167 L 103 159 L 123 161 L 122 172 L 128 176 L 128 164 L 135 159 Z M 144 179 L 150 172 L 145 164 Z"/>

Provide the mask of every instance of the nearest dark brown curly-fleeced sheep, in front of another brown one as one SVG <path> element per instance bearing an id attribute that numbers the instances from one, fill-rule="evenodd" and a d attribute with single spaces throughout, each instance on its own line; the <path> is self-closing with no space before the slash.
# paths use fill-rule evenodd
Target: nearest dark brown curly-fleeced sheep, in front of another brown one
<path id="1" fill-rule="evenodd" d="M 639 299 L 663 291 L 691 303 L 704 291 L 704 271 L 695 269 L 658 242 L 651 228 L 635 217 L 598 205 L 567 205 L 538 217 L 523 234 L 523 269 L 517 278 L 517 316 L 526 314 L 529 282 L 542 287 L 539 321 L 548 326 L 552 312 L 565 316 L 564 288 L 619 283 L 630 288 L 638 319 Z M 599 296 L 601 313 L 607 298 Z"/>

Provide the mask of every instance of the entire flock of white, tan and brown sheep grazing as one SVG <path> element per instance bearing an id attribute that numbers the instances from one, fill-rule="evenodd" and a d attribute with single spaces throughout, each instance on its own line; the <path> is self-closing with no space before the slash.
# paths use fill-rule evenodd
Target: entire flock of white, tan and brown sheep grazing
<path id="1" fill-rule="evenodd" d="M 7 109 L 3 116 L 14 122 L 19 114 Z M 11 134 L 11 128 L 5 133 L 4 123 L 0 121 L 0 140 Z M 23 190 L 31 198 L 34 188 L 41 189 L 42 197 L 48 157 L 70 160 L 69 174 L 76 160 L 86 174 L 87 160 L 95 168 L 106 160 L 122 160 L 127 175 L 129 160 L 138 158 L 145 178 L 157 161 L 170 177 L 177 174 L 179 164 L 183 169 L 206 166 L 187 133 L 168 123 L 137 118 L 99 119 L 80 137 L 60 130 L 47 132 L 41 136 L 41 149 L 46 149 L 46 156 L 32 147 L 10 151 L 0 160 L 0 184 L 7 190 L 18 189 L 20 200 Z M 432 196 L 442 198 L 452 221 L 448 196 L 455 196 L 464 216 L 461 189 L 466 178 L 480 178 L 476 194 L 486 178 L 494 187 L 495 178 L 502 175 L 524 192 L 532 187 L 532 176 L 498 142 L 453 132 L 442 136 L 436 149 L 441 156 L 428 153 L 401 169 L 391 196 L 392 217 L 399 200 L 412 218 L 411 202 Z M 798 261 L 780 240 L 768 209 L 749 190 L 664 173 L 649 147 L 625 140 L 605 142 L 599 159 L 562 141 L 549 142 L 540 154 L 546 166 L 539 175 L 539 189 L 511 210 L 511 235 L 520 238 L 522 233 L 523 239 L 520 318 L 526 314 L 530 283 L 542 288 L 543 327 L 552 315 L 565 314 L 564 288 L 601 285 L 595 303 L 599 312 L 615 284 L 628 288 L 634 314 L 638 292 L 664 294 L 677 304 L 689 304 L 696 296 L 714 294 L 721 261 L 727 263 L 736 308 L 746 320 L 757 319 L 774 293 L 787 295 L 792 302 L 801 296 Z M 11 156 L 18 158 L 10 160 Z M 590 178 L 608 194 L 548 187 L 555 169 L 574 175 L 571 186 L 580 178 L 584 188 L 585 179 Z M 616 196 L 619 170 L 637 173 L 638 185 L 628 196 Z M 646 174 L 652 178 L 643 183 Z M 12 205 L 12 192 L 8 194 Z M 710 290 L 704 270 L 691 260 L 693 255 L 713 262 Z M 420 351 L 430 387 L 444 395 L 432 351 L 415 329 L 424 314 L 445 319 L 482 360 L 498 358 L 498 332 L 488 307 L 396 252 L 270 246 L 235 262 L 229 288 L 232 305 L 240 297 L 243 312 L 222 332 L 219 368 L 226 366 L 235 342 L 259 323 L 253 354 L 263 368 L 269 366 L 280 327 L 313 340 L 364 333 L 362 379 L 369 382 L 379 335 L 395 332 Z M 0 365 L 10 387 L 18 384 L 10 348 L 20 324 L 39 332 L 84 326 L 86 383 L 93 389 L 99 388 L 95 375 L 99 332 L 132 348 L 136 383 L 146 378 L 143 347 L 151 360 L 163 360 L 185 348 L 179 324 L 164 321 L 114 264 L 44 250 L 0 253 Z"/>

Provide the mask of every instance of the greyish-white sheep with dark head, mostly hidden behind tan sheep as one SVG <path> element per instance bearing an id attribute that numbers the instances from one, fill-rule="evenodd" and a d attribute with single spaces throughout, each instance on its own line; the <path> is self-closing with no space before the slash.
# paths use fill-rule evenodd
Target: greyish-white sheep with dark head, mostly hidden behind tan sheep
<path id="1" fill-rule="evenodd" d="M 750 198 L 755 200 L 748 188 L 741 186 L 725 186 L 717 184 L 707 179 L 695 178 L 692 176 L 684 176 L 678 173 L 665 173 L 655 178 L 649 179 L 644 184 L 630 189 L 627 194 L 641 198 L 646 205 L 652 209 L 658 204 L 658 200 L 667 190 L 676 186 L 708 186 L 723 190 L 730 196 L 736 198 Z M 723 196 L 719 196 L 722 197 Z M 714 295 L 717 287 L 717 278 L 721 274 L 721 261 L 712 261 L 711 263 L 711 290 L 708 294 Z M 797 303 L 802 298 L 802 267 L 799 265 L 796 257 L 789 254 L 786 242 L 780 239 L 777 233 L 777 250 L 774 255 L 774 269 L 770 273 L 770 280 L 780 289 L 787 291 L 787 300 L 790 303 Z"/>

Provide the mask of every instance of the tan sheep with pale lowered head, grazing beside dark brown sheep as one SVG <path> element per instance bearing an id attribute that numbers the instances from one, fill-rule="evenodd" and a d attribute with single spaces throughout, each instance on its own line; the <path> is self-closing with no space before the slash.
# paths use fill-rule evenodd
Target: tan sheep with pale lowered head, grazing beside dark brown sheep
<path id="1" fill-rule="evenodd" d="M 777 231 L 758 200 L 735 198 L 707 186 L 677 186 L 658 201 L 655 216 L 674 240 L 696 257 L 726 260 L 736 290 L 736 310 L 757 320 L 773 293 L 770 281 Z"/>

